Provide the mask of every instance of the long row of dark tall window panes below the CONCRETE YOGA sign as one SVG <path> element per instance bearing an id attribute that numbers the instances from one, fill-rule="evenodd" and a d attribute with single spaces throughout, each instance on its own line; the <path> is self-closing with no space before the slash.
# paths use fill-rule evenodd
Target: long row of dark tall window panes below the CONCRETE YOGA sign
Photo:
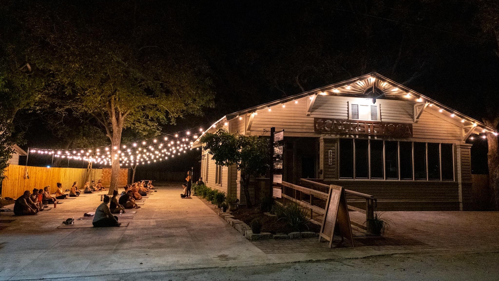
<path id="1" fill-rule="evenodd" d="M 339 176 L 453 181 L 453 157 L 449 143 L 340 139 Z"/>

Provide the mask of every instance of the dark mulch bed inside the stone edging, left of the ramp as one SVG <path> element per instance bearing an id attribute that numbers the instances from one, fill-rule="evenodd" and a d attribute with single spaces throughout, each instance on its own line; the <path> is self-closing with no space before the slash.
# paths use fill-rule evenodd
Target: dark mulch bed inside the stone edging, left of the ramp
<path id="1" fill-rule="evenodd" d="M 282 219 L 277 221 L 277 217 L 267 216 L 260 211 L 259 207 L 246 209 L 242 208 L 238 211 L 232 212 L 235 219 L 245 222 L 247 225 L 251 226 L 250 223 L 253 219 L 259 219 L 261 222 L 261 231 L 270 232 L 271 234 L 276 233 L 290 233 L 298 231 L 287 225 L 287 223 Z M 313 231 L 318 233 L 320 231 L 320 226 L 308 223 L 308 229 L 301 229 L 300 231 Z"/>

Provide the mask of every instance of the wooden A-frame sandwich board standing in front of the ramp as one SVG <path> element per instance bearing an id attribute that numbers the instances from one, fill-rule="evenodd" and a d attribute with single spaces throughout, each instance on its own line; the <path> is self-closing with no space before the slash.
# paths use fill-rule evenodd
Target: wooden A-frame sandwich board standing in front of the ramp
<path id="1" fill-rule="evenodd" d="M 353 245 L 352 226 L 346 206 L 346 197 L 343 187 L 331 185 L 326 201 L 326 213 L 322 220 L 322 227 L 319 233 L 319 242 L 322 238 L 329 241 L 329 248 L 333 242 L 334 231 L 336 230 L 342 237 L 350 240 Z"/>

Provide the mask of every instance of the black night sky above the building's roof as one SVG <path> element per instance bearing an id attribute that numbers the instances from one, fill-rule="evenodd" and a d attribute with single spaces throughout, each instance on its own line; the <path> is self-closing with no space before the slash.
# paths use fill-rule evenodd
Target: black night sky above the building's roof
<path id="1" fill-rule="evenodd" d="M 300 93 L 297 75 L 310 90 L 371 71 L 480 119 L 483 97 L 497 92 L 497 45 L 480 32 L 473 4 L 440 2 L 109 1 L 91 8 L 80 3 L 80 8 L 137 24 L 161 24 L 165 11 L 182 18 L 186 40 L 209 63 L 217 95 L 216 107 L 204 117 L 186 116 L 176 126 L 164 126 L 164 132 L 176 132 Z M 57 143 L 44 126 L 31 122 L 24 148 Z M 151 168 L 184 170 L 196 162 L 198 153 L 191 155 Z"/>

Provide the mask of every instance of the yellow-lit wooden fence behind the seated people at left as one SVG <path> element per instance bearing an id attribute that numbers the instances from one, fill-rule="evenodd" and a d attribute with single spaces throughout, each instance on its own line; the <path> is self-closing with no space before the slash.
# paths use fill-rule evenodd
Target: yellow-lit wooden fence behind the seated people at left
<path id="1" fill-rule="evenodd" d="M 27 175 L 29 179 L 25 178 Z M 63 190 L 69 189 L 73 182 L 78 182 L 78 188 L 82 188 L 87 180 L 87 169 L 78 168 L 46 168 L 9 165 L 5 169 L 6 178 L 2 182 L 1 196 L 16 199 L 21 196 L 25 190 L 32 191 L 33 188 L 43 188 L 50 186 L 50 192 L 57 190 L 57 183 L 62 184 Z M 91 180 L 98 180 L 102 176 L 102 169 L 92 169 L 90 173 Z"/>

